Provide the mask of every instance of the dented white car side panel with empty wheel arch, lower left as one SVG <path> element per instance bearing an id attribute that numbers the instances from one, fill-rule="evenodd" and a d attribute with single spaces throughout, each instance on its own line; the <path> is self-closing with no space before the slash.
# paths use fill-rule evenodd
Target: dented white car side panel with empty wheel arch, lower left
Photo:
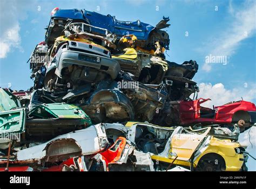
<path id="1" fill-rule="evenodd" d="M 71 145 L 66 145 L 69 142 Z M 60 145 L 52 144 L 61 144 L 62 147 L 59 149 Z M 79 154 L 88 155 L 97 153 L 104 150 L 108 144 L 109 141 L 106 137 L 104 125 L 92 125 L 86 129 L 63 134 L 46 143 L 18 151 L 17 160 L 45 159 L 47 161 L 52 158 L 53 161 L 56 161 L 54 157 L 60 159 L 64 156 L 66 158 L 66 156 L 70 156 L 70 153 L 71 157 L 78 156 Z M 77 149 L 77 151 L 74 151 L 74 149 Z"/>

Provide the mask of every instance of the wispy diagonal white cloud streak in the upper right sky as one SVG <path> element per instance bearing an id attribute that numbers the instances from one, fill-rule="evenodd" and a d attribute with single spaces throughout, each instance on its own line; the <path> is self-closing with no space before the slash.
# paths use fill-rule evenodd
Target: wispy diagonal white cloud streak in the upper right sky
<path id="1" fill-rule="evenodd" d="M 246 1 L 243 6 L 235 7 L 228 5 L 228 12 L 232 17 L 232 22 L 227 24 L 227 29 L 220 33 L 218 38 L 212 38 L 210 49 L 207 55 L 231 57 L 240 45 L 240 42 L 254 35 L 256 31 L 255 24 L 255 1 Z M 203 70 L 211 71 L 212 64 L 205 63 Z"/>

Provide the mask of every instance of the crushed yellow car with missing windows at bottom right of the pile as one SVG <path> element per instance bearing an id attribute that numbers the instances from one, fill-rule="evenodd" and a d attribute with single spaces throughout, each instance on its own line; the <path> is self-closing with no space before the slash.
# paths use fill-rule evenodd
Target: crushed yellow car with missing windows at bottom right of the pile
<path id="1" fill-rule="evenodd" d="M 247 171 L 245 148 L 230 139 L 208 135 L 211 127 L 203 134 L 181 126 L 160 127 L 138 122 L 128 122 L 125 127 L 126 130 L 120 125 L 116 128 L 138 150 L 150 152 L 156 170 L 180 165 L 197 171 Z"/>

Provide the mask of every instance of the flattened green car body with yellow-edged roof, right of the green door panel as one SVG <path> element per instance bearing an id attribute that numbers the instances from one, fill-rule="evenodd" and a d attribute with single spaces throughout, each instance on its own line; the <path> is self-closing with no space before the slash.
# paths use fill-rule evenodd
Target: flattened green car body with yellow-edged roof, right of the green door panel
<path id="1" fill-rule="evenodd" d="M 26 139 L 45 141 L 59 134 L 84 129 L 91 119 L 75 105 L 65 103 L 41 104 L 28 112 Z"/>

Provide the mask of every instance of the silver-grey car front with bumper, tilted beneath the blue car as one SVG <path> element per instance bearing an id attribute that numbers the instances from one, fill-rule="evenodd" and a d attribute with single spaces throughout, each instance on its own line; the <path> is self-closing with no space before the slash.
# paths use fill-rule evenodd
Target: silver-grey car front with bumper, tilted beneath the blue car
<path id="1" fill-rule="evenodd" d="M 71 40 L 62 44 L 46 65 L 44 87 L 48 90 L 73 89 L 106 77 L 115 79 L 119 71 L 119 64 L 110 58 L 108 50 Z"/>

